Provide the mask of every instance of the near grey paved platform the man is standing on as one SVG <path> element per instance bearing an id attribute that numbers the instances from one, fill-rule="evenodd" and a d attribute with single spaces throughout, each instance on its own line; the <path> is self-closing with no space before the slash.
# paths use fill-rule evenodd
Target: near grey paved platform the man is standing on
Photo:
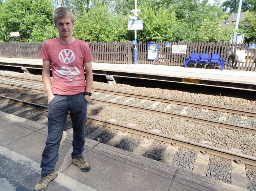
<path id="1" fill-rule="evenodd" d="M 0 188 L 33 190 L 40 179 L 47 127 L 0 112 Z M 72 133 L 65 132 L 48 191 L 240 191 L 233 185 L 86 139 L 84 157 L 91 170 L 71 164 Z"/>

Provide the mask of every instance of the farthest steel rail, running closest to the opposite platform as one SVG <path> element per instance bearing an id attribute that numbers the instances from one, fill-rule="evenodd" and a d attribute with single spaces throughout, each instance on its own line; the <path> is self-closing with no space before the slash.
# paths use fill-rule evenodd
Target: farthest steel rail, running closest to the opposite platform
<path id="1" fill-rule="evenodd" d="M 10 77 L 10 76 L 5 76 L 5 75 L 0 75 L 0 77 L 17 79 L 17 80 L 25 79 L 25 81 L 43 83 L 43 81 L 31 80 L 28 78 Z M 4 84 L 4 83 L 2 83 L 2 84 Z M 152 101 L 161 101 L 161 102 L 166 102 L 166 103 L 188 105 L 191 107 L 207 108 L 210 110 L 225 111 L 228 113 L 236 113 L 236 114 L 240 114 L 240 115 L 256 117 L 256 112 L 253 112 L 253 111 L 237 110 L 237 109 L 233 109 L 233 108 L 219 107 L 219 106 L 207 105 L 207 104 L 198 104 L 198 103 L 194 103 L 194 102 L 180 101 L 180 100 L 168 99 L 168 98 L 158 98 L 158 97 L 148 96 L 148 95 L 139 95 L 139 94 L 124 93 L 124 92 L 112 91 L 112 90 L 103 90 L 103 89 L 99 89 L 99 88 L 93 88 L 93 91 L 102 92 L 102 93 L 112 93 L 112 94 L 116 94 L 116 95 L 124 95 L 124 96 L 130 96 L 130 97 L 135 97 L 135 98 L 148 99 L 148 100 L 152 100 Z"/>

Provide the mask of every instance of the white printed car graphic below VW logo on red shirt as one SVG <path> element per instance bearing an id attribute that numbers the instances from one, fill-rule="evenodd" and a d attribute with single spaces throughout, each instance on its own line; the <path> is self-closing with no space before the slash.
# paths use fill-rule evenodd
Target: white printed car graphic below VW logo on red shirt
<path id="1" fill-rule="evenodd" d="M 80 74 L 79 70 L 76 67 L 67 67 L 67 66 L 62 66 L 59 70 L 55 70 L 54 73 L 61 77 L 64 78 L 68 81 L 74 81 L 74 80 L 79 80 L 78 75 Z"/>

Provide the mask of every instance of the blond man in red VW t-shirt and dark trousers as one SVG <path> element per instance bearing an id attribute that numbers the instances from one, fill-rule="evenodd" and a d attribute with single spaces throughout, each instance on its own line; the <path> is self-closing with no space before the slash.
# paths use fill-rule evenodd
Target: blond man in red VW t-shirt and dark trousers
<path id="1" fill-rule="evenodd" d="M 48 136 L 40 166 L 41 179 L 34 191 L 45 190 L 49 182 L 57 177 L 55 165 L 59 158 L 59 145 L 68 112 L 73 125 L 72 164 L 80 167 L 82 171 L 90 169 L 82 153 L 87 103 L 93 87 L 93 57 L 88 44 L 72 36 L 74 15 L 70 9 L 58 7 L 52 17 L 59 31 L 59 38 L 46 40 L 40 52 L 40 58 L 43 59 L 43 84 L 49 104 Z"/>

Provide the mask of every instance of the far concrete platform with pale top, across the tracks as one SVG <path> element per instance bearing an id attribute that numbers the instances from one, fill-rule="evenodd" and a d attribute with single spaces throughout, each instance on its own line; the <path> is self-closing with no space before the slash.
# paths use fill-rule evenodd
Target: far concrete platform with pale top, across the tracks
<path id="1" fill-rule="evenodd" d="M 42 60 L 0 57 L 0 65 L 42 69 Z M 148 79 L 256 91 L 256 72 L 241 70 L 221 71 L 220 69 L 152 64 L 93 63 L 93 74 L 113 78 Z"/>

